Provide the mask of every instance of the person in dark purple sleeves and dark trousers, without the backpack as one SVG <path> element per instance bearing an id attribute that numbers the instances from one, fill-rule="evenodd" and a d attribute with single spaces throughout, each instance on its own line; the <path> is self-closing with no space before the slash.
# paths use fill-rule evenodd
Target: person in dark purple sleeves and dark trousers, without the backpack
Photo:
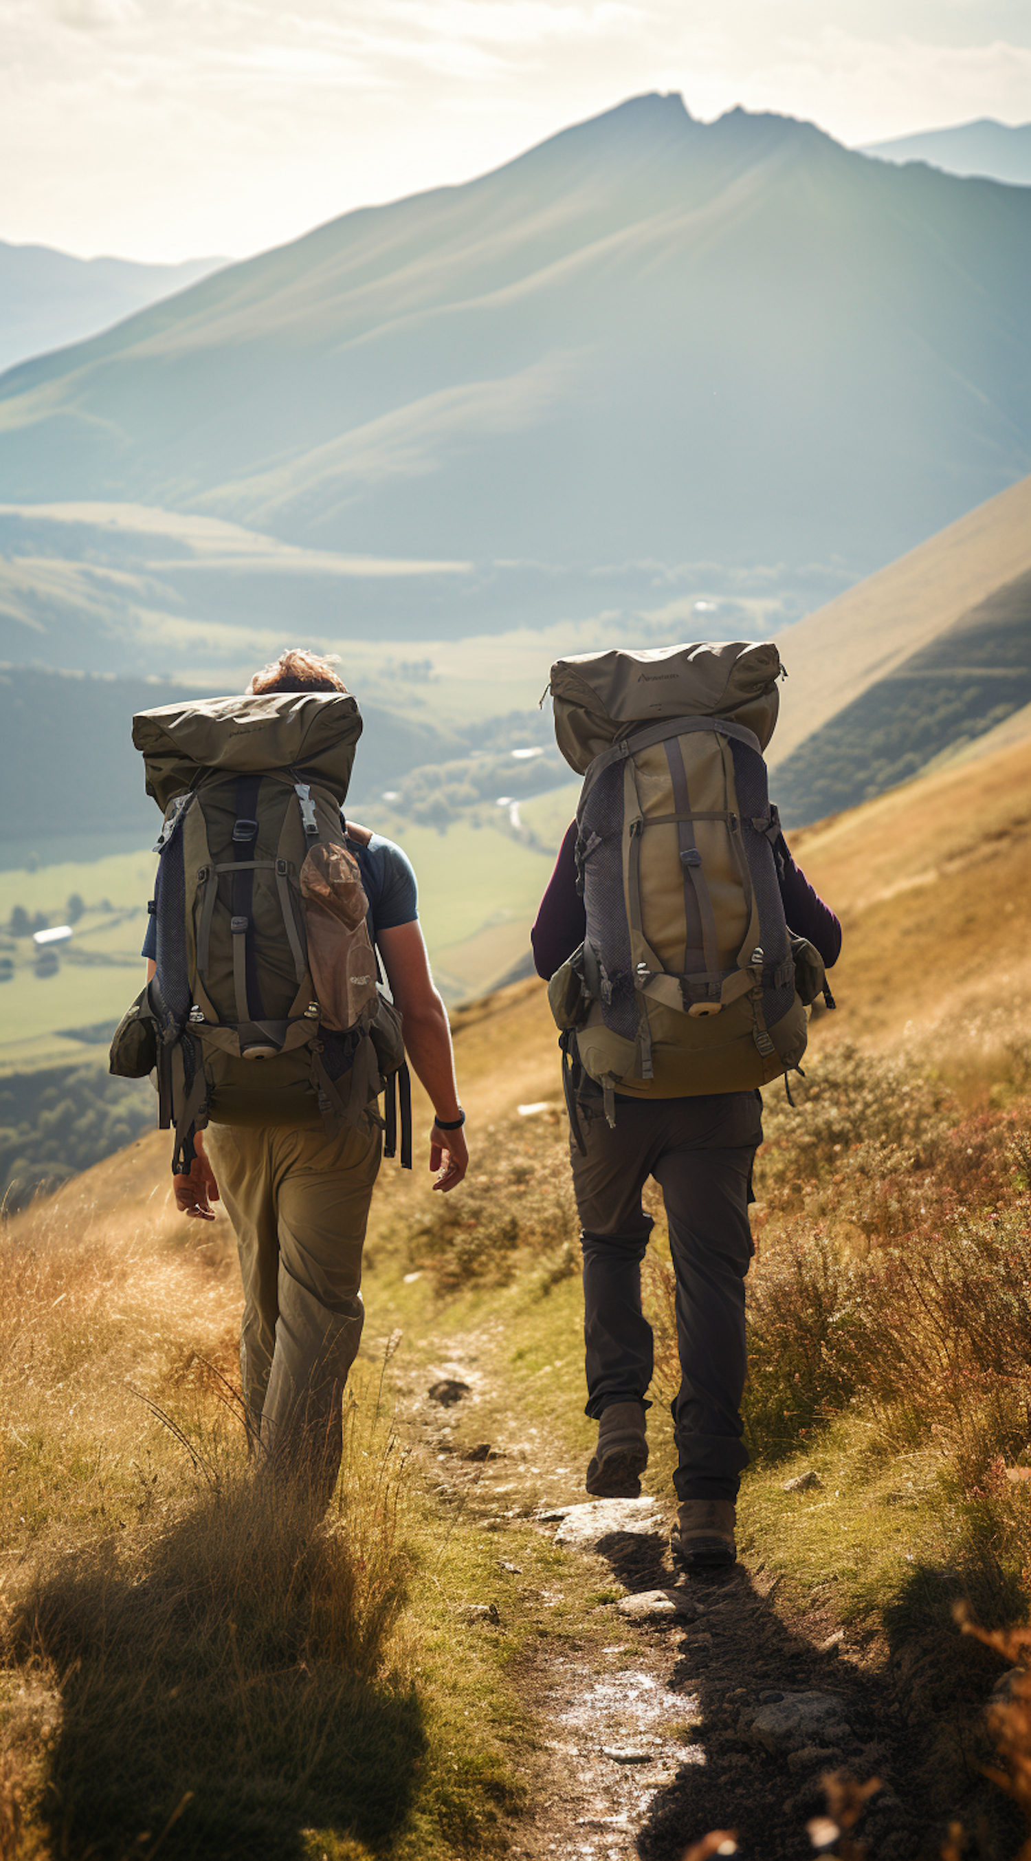
<path id="1" fill-rule="evenodd" d="M 573 823 L 530 932 L 543 977 L 555 975 L 586 938 L 575 845 Z M 783 836 L 774 843 L 774 865 L 787 927 L 808 938 L 830 968 L 841 949 L 841 925 L 795 865 Z M 653 1176 L 670 1226 L 683 1375 L 672 1403 L 679 1452 L 674 1561 L 683 1569 L 726 1565 L 737 1556 L 735 1504 L 748 1463 L 739 1407 L 744 1275 L 754 1254 L 748 1202 L 763 1102 L 757 1091 L 614 1098 L 618 1115 L 609 1128 L 601 1087 L 584 1074 L 575 1096 L 582 1145 L 569 1143 L 582 1225 L 586 1414 L 599 1424 L 586 1489 L 599 1498 L 635 1498 L 648 1463 L 653 1342 L 640 1305 L 640 1262 L 653 1223 L 640 1193 Z"/>

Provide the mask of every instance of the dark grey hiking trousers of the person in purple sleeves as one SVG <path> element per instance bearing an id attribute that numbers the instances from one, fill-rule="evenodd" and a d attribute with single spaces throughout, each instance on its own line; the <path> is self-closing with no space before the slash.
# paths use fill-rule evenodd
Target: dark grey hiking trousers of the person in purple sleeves
<path id="1" fill-rule="evenodd" d="M 653 1370 L 640 1308 L 640 1262 L 651 1217 L 649 1176 L 663 1189 L 676 1273 L 681 1386 L 672 1403 L 681 1500 L 735 1500 L 741 1442 L 744 1275 L 752 1260 L 748 1197 L 763 1141 L 757 1092 L 616 1102 L 609 1130 L 597 1098 L 581 1100 L 586 1156 L 571 1145 L 584 1251 L 586 1412 L 642 1401 Z"/>

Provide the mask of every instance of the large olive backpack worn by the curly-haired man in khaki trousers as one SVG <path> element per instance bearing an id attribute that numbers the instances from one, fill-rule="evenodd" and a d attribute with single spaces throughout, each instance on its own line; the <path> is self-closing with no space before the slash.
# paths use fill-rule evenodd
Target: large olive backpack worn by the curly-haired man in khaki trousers
<path id="1" fill-rule="evenodd" d="M 164 810 L 156 975 L 112 1044 L 112 1072 L 156 1066 L 173 1171 L 216 1124 L 328 1131 L 387 1089 L 387 1156 L 411 1165 L 400 1016 L 378 990 L 341 804 L 361 715 L 344 692 L 205 698 L 141 711 L 132 741 Z"/>

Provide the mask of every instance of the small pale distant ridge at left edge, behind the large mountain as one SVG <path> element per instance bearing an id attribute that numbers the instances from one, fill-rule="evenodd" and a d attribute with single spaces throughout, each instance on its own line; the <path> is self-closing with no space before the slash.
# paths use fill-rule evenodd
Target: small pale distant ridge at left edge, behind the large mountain
<path id="1" fill-rule="evenodd" d="M 82 342 L 208 277 L 225 259 L 136 264 L 0 240 L 0 368 Z"/>

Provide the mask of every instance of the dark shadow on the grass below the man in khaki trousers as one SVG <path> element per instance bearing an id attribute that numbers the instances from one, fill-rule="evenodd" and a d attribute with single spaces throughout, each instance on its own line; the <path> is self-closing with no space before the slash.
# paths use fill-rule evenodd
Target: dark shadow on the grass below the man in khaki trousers
<path id="1" fill-rule="evenodd" d="M 346 1511 L 320 1524 L 248 1481 L 194 1504 L 143 1560 L 106 1546 L 45 1574 L 11 1653 L 60 1677 L 56 1852 L 389 1854 L 426 1738 L 411 1686 L 382 1673 L 400 1582 L 367 1552 Z"/>

